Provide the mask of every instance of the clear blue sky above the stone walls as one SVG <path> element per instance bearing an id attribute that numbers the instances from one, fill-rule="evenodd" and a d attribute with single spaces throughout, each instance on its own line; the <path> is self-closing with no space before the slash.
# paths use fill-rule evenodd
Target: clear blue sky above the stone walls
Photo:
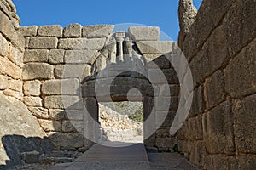
<path id="1" fill-rule="evenodd" d="M 79 23 L 96 24 L 136 23 L 159 26 L 172 40 L 179 31 L 178 0 L 13 0 L 20 16 L 20 26 L 59 24 L 63 27 Z M 202 0 L 194 0 L 199 8 Z"/>

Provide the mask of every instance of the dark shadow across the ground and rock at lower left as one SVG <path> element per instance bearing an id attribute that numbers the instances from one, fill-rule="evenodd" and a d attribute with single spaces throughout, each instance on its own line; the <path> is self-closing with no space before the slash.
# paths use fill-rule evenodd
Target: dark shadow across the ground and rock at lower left
<path id="1" fill-rule="evenodd" d="M 79 102 L 78 102 L 79 103 Z M 73 109 L 77 104 L 71 105 L 67 110 Z M 65 120 L 66 122 L 70 122 L 67 116 L 67 110 L 62 111 L 56 117 L 58 120 Z M 73 126 L 70 124 L 70 126 Z M 54 129 L 60 129 L 59 125 L 56 125 L 53 122 Z M 2 144 L 6 155 L 9 160 L 5 159 L 0 152 L 0 161 L 5 161 L 5 165 L 0 164 L 0 169 L 19 169 L 20 165 L 23 165 L 24 158 L 22 158 L 22 153 L 37 151 L 39 156 L 41 155 L 49 155 L 55 150 L 70 150 L 70 149 L 79 149 L 84 146 L 84 136 L 79 133 L 78 130 L 74 127 L 73 131 L 70 133 L 54 133 L 49 135 L 49 137 L 44 137 L 44 139 L 40 137 L 24 137 L 22 135 L 5 135 L 2 137 Z M 87 142 L 87 144 L 92 144 Z M 65 146 L 65 147 L 61 147 Z M 26 158 L 25 158 L 26 159 Z M 29 161 L 29 160 L 28 160 Z M 40 161 L 40 160 L 38 160 Z M 44 161 L 44 160 L 41 160 Z M 31 162 L 30 162 L 31 163 Z"/>

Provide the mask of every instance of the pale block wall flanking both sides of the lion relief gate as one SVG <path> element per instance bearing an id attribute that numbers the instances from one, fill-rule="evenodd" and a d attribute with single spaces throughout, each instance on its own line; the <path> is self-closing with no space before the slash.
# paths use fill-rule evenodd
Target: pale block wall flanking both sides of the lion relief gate
<path id="1" fill-rule="evenodd" d="M 108 41 L 113 28 L 114 26 L 108 25 L 82 27 L 72 24 L 64 29 L 61 26 L 25 26 L 19 29 L 26 38 L 22 73 L 24 103 L 38 118 L 40 126 L 56 147 L 79 148 L 84 144 L 85 147 L 90 145 L 86 139 L 84 143 L 83 137 L 86 118 L 80 83 L 87 77 L 94 76 L 95 71 L 101 70 L 102 57 L 107 59 L 110 54 Z M 159 41 L 158 27 L 130 27 L 125 34 L 133 38 L 138 53 L 147 63 L 143 69 L 148 71 L 149 77 L 151 74 L 158 97 L 155 104 L 158 108 L 154 114 L 161 114 L 160 102 L 165 98 L 165 90 L 170 91 L 171 88 L 172 107 L 168 111 L 166 123 L 148 143 L 170 150 L 176 142 L 167 131 L 177 110 L 179 86 L 175 71 L 163 54 L 171 52 L 177 45 L 174 42 Z M 155 77 L 159 70 L 166 77 L 166 84 Z M 152 99 L 147 101 L 152 103 Z"/>

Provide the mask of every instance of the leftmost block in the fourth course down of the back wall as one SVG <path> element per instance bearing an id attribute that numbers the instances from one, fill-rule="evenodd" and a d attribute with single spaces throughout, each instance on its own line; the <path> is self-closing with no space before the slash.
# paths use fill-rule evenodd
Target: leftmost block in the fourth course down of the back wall
<path id="1" fill-rule="evenodd" d="M 46 63 L 27 63 L 23 67 L 23 80 L 50 79 L 53 77 L 54 66 Z"/>

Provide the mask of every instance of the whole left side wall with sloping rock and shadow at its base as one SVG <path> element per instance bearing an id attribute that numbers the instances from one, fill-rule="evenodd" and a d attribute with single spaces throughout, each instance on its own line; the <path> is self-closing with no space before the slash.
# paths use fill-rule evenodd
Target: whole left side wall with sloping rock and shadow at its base
<path id="1" fill-rule="evenodd" d="M 23 104 L 23 53 L 25 39 L 15 5 L 0 1 L 0 169 L 21 163 L 20 153 L 46 149 L 44 131 Z M 38 142 L 42 145 L 38 148 Z M 43 144 L 44 143 L 44 144 Z"/>

